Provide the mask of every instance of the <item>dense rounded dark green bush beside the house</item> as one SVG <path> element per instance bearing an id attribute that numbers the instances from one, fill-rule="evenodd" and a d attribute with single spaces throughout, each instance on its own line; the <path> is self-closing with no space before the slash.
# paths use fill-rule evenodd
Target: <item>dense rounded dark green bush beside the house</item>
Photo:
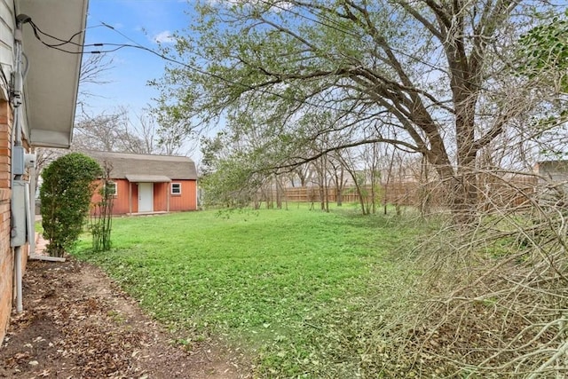
<path id="1" fill-rule="evenodd" d="M 71 153 L 43 170 L 40 188 L 43 237 L 51 257 L 62 257 L 75 244 L 89 211 L 94 180 L 102 175 L 92 158 Z"/>

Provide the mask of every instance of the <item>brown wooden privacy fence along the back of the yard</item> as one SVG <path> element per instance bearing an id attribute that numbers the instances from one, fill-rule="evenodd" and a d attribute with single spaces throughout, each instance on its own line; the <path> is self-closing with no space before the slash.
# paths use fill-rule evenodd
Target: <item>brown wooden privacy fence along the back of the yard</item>
<path id="1" fill-rule="evenodd" d="M 535 193 L 537 179 L 534 177 L 519 177 L 509 181 L 502 179 L 495 180 L 490 178 L 479 178 L 479 202 L 485 208 L 518 206 L 524 204 Z M 364 201 L 370 201 L 372 189 L 370 186 L 363 186 L 362 193 Z M 280 196 L 282 201 L 297 202 L 319 202 L 321 197 L 327 197 L 327 201 L 336 202 L 338 193 L 334 186 L 330 186 L 323 191 L 319 186 L 291 187 L 264 193 L 265 197 L 272 196 L 272 199 L 262 199 L 262 201 L 276 201 Z M 355 186 L 345 186 L 341 192 L 343 202 L 360 202 L 359 192 Z M 396 182 L 389 185 L 375 187 L 375 201 L 379 203 L 387 202 L 390 204 L 406 206 L 422 206 L 428 203 L 431 206 L 446 205 L 447 196 L 444 186 L 441 183 L 418 183 L 418 182 Z"/>

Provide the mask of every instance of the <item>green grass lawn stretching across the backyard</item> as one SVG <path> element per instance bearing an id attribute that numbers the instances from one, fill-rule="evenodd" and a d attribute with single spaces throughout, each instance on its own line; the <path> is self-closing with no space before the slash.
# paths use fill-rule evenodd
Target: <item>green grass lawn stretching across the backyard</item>
<path id="1" fill-rule="evenodd" d="M 355 377 L 366 366 L 361 333 L 380 318 L 369 304 L 405 276 L 390 252 L 412 243 L 416 224 L 351 206 L 119 217 L 112 251 L 92 253 L 85 235 L 75 255 L 179 343 L 222 337 L 262 377 Z"/>

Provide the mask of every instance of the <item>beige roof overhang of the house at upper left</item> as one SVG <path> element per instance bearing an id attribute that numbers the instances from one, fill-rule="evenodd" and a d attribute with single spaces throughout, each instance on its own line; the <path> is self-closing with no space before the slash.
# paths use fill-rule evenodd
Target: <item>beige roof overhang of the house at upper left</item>
<path id="1" fill-rule="evenodd" d="M 22 45 L 29 67 L 24 83 L 28 142 L 67 148 L 75 122 L 88 0 L 20 0 L 16 5 L 16 12 L 27 14 L 46 34 L 64 41 L 73 36 L 72 43 L 58 46 L 68 52 L 59 51 L 45 46 L 30 25 L 23 25 Z M 40 37 L 45 43 L 61 43 Z"/>

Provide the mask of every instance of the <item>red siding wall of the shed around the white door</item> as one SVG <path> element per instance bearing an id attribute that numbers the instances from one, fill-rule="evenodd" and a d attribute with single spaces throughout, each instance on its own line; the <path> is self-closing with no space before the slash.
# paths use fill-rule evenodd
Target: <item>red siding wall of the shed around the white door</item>
<path id="1" fill-rule="evenodd" d="M 114 197 L 113 214 L 125 215 L 138 213 L 138 184 L 132 183 L 132 204 L 130 211 L 129 186 L 127 179 L 114 179 L 117 187 L 117 196 Z M 171 194 L 170 183 L 154 183 L 154 212 L 168 210 L 168 197 L 170 197 L 170 211 L 197 209 L 197 184 L 195 180 L 172 180 L 172 183 L 181 184 L 181 194 Z M 98 191 L 93 195 L 92 202 L 100 200 Z"/>

